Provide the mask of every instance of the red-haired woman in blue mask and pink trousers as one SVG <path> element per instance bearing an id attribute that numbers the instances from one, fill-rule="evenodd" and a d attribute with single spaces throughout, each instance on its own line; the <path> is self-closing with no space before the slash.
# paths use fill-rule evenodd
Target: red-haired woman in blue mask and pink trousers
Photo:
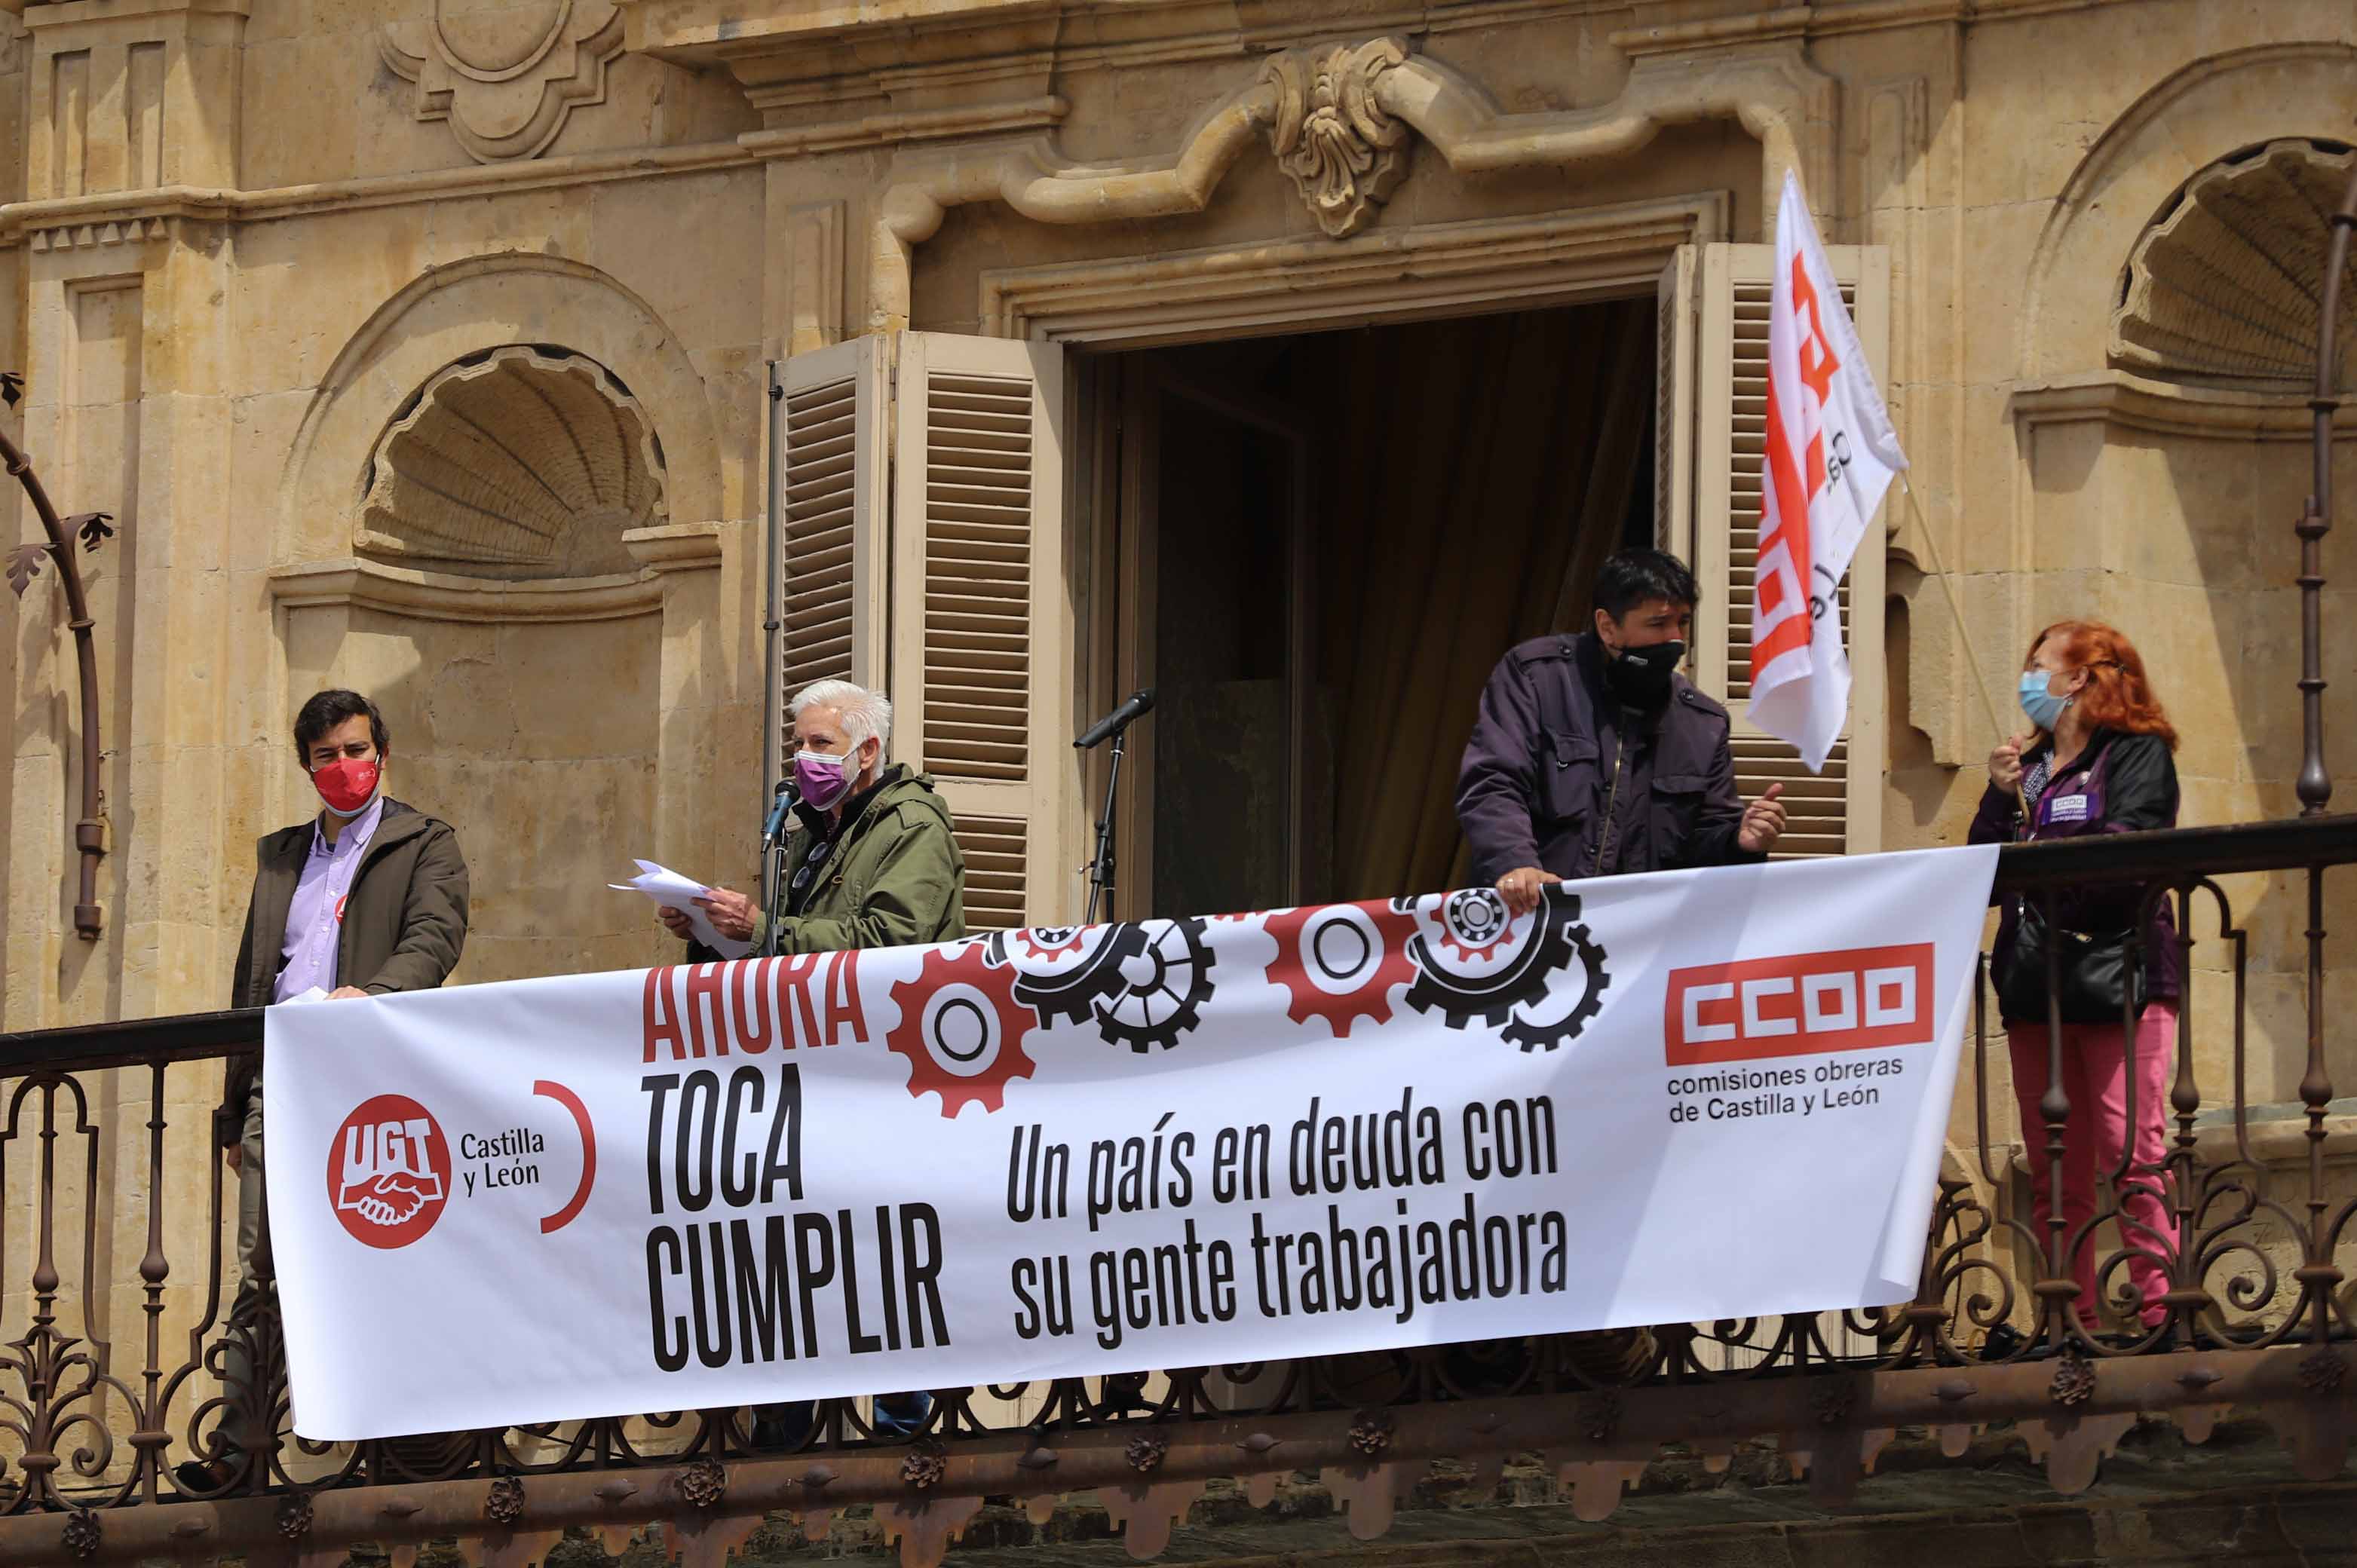
<path id="1" fill-rule="evenodd" d="M 2020 698 L 2036 733 L 1989 752 L 1989 790 L 1973 818 L 1975 844 L 2176 828 L 2178 731 L 2152 696 L 2145 660 L 2126 637 L 2093 620 L 2046 627 L 2022 663 Z M 2027 821 L 2022 802 L 2029 806 Z M 2154 1330 L 2168 1316 L 2161 1302 L 2168 1271 L 2161 1259 L 2176 1257 L 2157 1167 L 2164 1155 L 2161 1113 L 2183 986 L 2166 901 L 2157 901 L 2145 924 L 2140 971 L 2128 962 L 2133 943 L 2126 936 L 2143 901 L 2145 889 L 2133 884 L 2055 891 L 2044 908 L 2032 908 L 2025 931 L 2022 901 L 2008 898 L 1992 971 L 2013 1047 L 2013 1094 L 2022 1108 L 2022 1139 L 2036 1177 L 2032 1203 L 2044 1243 L 2053 1217 L 2046 1115 L 2039 1111 L 2051 1045 L 2046 948 L 2062 943 L 2062 1092 L 2069 1096 L 2069 1120 L 2062 1127 L 2062 1233 L 2077 1236 L 2095 1214 L 2095 1172 L 2119 1172 L 2121 1153 L 2133 1155 L 2128 1191 L 2119 1205 L 2121 1236 L 2131 1247 L 2126 1271 L 2143 1302 L 2143 1323 Z M 2121 1023 L 2128 1014 L 2138 1019 L 2133 1052 Z M 2093 1238 L 2077 1245 L 2072 1276 L 2079 1280 L 2079 1323 L 2093 1332 Z"/>

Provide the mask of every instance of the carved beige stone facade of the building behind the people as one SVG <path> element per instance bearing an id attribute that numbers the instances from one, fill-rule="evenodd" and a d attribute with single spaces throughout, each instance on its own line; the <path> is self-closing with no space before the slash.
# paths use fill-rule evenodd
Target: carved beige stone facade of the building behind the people
<path id="1" fill-rule="evenodd" d="M 1879 370 L 1921 502 L 1886 516 L 1883 601 L 1853 606 L 1883 648 L 1855 759 L 1881 842 L 1961 837 L 1994 740 L 1975 674 L 2011 689 L 2065 613 L 2145 648 L 2185 726 L 2190 823 L 2291 811 L 2296 382 L 2319 193 L 2357 134 L 2345 0 L 1351 14 L 71 0 L 9 19 L 0 368 L 28 377 L 24 443 L 61 505 L 123 535 L 92 566 L 120 714 L 97 943 L 61 896 L 73 674 L 47 589 L 0 644 L 0 1023 L 226 1000 L 250 844 L 306 811 L 288 719 L 325 681 L 384 700 L 394 792 L 481 854 L 460 979 L 662 953 L 592 889 L 632 854 L 750 872 L 764 361 L 844 335 L 1063 344 L 1070 370 L 1662 290 L 1657 493 L 1685 507 L 1681 538 L 1725 526 L 1692 502 L 1709 398 L 1739 401 L 1739 311 L 1709 295 L 1732 274 L 1695 262 L 1768 241 L 1787 170 L 1827 241 L 1888 278 Z M 889 370 L 863 387 L 891 396 Z M 976 373 L 1014 408 L 1006 375 Z M 1103 431 L 1042 410 L 1025 441 L 1068 441 L 1080 516 Z M 2341 474 L 2357 495 L 2357 457 Z M 891 502 L 867 469 L 844 493 L 860 483 Z M 2326 542 L 2326 627 L 2357 625 L 2348 535 Z M 891 637 L 926 604 L 874 538 L 867 575 L 844 566 L 865 597 L 841 641 L 903 696 L 922 679 Z M 1110 679 L 1089 575 L 1110 568 L 1089 561 L 1075 547 L 1023 627 L 1068 703 Z M 2326 658 L 2331 762 L 2357 780 L 2338 707 L 2357 639 L 2329 634 Z M 1068 868 L 1075 778 L 1037 799 L 1009 790 L 988 821 L 999 858 L 1032 844 Z M 1037 917 L 1077 915 L 1068 879 L 1032 891 Z M 2253 1099 L 2286 1096 L 2305 910 L 2237 896 Z M 2204 1082 L 2227 1080 L 2230 1047 L 2201 1049 Z M 200 1191 L 191 1170 L 179 1212 Z"/>

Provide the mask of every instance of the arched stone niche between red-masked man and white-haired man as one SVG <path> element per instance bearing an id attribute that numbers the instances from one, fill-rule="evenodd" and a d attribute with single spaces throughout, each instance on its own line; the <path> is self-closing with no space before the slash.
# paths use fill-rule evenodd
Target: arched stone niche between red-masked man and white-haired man
<path id="1" fill-rule="evenodd" d="M 672 950 L 603 884 L 634 854 L 712 856 L 719 469 L 676 335 L 559 257 L 417 278 L 311 398 L 266 573 L 280 707 L 325 684 L 384 707 L 391 795 L 467 854 L 455 979 Z M 292 821 L 302 780 L 280 771 Z"/>

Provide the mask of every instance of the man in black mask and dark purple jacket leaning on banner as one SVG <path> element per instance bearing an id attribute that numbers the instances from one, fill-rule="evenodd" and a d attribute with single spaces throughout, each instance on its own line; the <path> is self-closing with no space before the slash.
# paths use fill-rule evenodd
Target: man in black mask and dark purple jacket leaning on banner
<path id="1" fill-rule="evenodd" d="M 1457 769 L 1473 879 L 1523 915 L 1549 882 L 1761 861 L 1782 785 L 1744 806 L 1728 710 L 1678 674 L 1695 575 L 1622 549 L 1596 580 L 1596 627 L 1508 648 Z"/>

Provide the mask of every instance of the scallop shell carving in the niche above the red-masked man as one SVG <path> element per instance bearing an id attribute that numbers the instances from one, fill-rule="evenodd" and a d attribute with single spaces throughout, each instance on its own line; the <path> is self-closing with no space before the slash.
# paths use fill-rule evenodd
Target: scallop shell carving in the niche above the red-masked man
<path id="1" fill-rule="evenodd" d="M 636 571 L 662 521 L 653 420 L 603 365 L 509 344 L 438 370 L 368 465 L 363 554 L 478 578 Z"/>

